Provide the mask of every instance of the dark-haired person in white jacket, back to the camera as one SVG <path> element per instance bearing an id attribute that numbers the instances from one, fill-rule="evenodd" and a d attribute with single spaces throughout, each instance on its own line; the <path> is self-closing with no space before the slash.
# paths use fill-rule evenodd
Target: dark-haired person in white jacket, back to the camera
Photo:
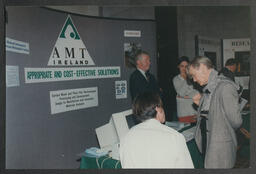
<path id="1" fill-rule="evenodd" d="M 158 94 L 139 94 L 133 114 L 142 123 L 121 139 L 122 168 L 194 168 L 184 136 L 162 124 L 165 113 Z"/>

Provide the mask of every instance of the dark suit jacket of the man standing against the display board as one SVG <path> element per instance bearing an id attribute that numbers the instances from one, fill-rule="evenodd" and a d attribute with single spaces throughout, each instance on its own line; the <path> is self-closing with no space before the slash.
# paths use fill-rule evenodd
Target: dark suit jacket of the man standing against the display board
<path id="1" fill-rule="evenodd" d="M 143 92 L 157 92 L 160 95 L 160 89 L 153 74 L 148 74 L 148 80 L 141 74 L 139 70 L 135 70 L 129 81 L 130 93 L 132 100 Z"/>

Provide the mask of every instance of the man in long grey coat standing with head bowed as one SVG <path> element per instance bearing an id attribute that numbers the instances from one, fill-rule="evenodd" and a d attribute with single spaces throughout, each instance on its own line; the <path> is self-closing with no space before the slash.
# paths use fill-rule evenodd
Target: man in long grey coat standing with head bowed
<path id="1" fill-rule="evenodd" d="M 233 168 L 236 161 L 235 130 L 242 124 L 239 86 L 218 75 L 207 57 L 196 57 L 187 68 L 200 86 L 204 86 L 199 104 L 195 140 L 204 156 L 205 168 Z"/>

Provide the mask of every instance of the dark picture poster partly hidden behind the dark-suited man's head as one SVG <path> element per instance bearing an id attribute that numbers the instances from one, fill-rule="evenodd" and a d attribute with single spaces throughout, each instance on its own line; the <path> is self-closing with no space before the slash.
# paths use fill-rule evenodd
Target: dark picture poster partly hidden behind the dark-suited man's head
<path id="1" fill-rule="evenodd" d="M 135 68 L 135 55 L 141 50 L 141 43 L 124 43 L 124 59 L 126 68 Z"/>

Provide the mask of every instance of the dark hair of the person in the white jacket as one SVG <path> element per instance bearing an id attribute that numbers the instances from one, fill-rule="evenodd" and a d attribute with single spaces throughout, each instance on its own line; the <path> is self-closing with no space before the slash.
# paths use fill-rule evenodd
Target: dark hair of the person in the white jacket
<path id="1" fill-rule="evenodd" d="M 157 93 L 141 93 L 134 99 L 133 114 L 141 121 L 155 118 L 157 114 L 155 108 L 162 105 L 162 100 Z"/>

